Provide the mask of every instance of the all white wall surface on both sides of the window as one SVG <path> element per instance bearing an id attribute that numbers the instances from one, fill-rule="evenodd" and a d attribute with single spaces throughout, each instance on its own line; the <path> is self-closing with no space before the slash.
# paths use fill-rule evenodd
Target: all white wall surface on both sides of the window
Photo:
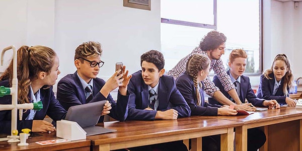
<path id="1" fill-rule="evenodd" d="M 302 2 L 296 10 L 292 1 L 263 2 L 264 69 L 277 53 L 286 53 L 295 78 L 301 77 Z M 0 49 L 38 44 L 54 48 L 60 58 L 59 79 L 74 72 L 73 52 L 83 41 L 103 45 L 105 64 L 99 77 L 105 80 L 115 62 L 123 61 L 132 73 L 139 69 L 143 52 L 161 48 L 158 0 L 151 2 L 151 11 L 123 7 L 122 0 L 2 0 L 0 20 Z M 6 53 L 5 62 L 11 55 Z"/>

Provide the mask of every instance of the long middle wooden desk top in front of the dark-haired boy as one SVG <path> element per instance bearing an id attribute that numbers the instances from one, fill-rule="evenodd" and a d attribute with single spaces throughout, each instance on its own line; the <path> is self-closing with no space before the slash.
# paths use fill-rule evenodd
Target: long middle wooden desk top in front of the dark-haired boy
<path id="1" fill-rule="evenodd" d="M 116 129 L 116 132 L 88 136 L 93 145 L 111 142 L 133 141 L 146 138 L 215 130 L 242 125 L 242 122 L 191 116 L 177 120 L 124 121 L 104 123 L 105 128 Z M 99 126 L 103 126 L 100 124 Z"/>

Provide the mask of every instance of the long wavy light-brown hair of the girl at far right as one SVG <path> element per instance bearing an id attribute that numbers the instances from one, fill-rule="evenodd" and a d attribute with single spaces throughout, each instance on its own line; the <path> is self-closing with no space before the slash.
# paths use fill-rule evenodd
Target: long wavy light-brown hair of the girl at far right
<path id="1" fill-rule="evenodd" d="M 282 88 L 284 96 L 287 96 L 288 95 L 287 87 L 290 89 L 293 88 L 293 84 L 292 84 L 293 74 L 291 72 L 289 59 L 287 58 L 287 56 L 285 54 L 283 54 L 283 53 L 277 54 L 274 58 L 271 68 L 266 69 L 263 72 L 263 75 L 266 79 L 273 79 L 273 78 L 269 77 L 269 74 L 273 73 L 273 66 L 274 66 L 275 61 L 277 61 L 277 60 L 282 60 L 287 65 L 287 72 L 285 73 L 284 78 L 283 78 L 284 82 L 283 82 L 283 88 Z"/>

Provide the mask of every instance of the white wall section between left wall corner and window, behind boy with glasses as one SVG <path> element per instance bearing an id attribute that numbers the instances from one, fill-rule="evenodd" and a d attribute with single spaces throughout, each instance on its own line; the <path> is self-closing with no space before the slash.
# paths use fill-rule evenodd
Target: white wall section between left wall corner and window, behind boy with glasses
<path id="1" fill-rule="evenodd" d="M 115 62 L 124 62 L 129 72 L 140 68 L 140 55 L 160 49 L 160 1 L 151 11 L 123 7 L 123 1 L 55 1 L 55 49 L 62 75 L 73 73 L 74 49 L 83 41 L 99 41 L 104 48 L 99 77 L 107 79 Z"/>

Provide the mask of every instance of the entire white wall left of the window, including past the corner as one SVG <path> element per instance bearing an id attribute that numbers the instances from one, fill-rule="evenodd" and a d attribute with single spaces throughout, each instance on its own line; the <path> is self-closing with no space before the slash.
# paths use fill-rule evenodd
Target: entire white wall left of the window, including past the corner
<path id="1" fill-rule="evenodd" d="M 105 80 L 123 61 L 130 73 L 140 68 L 140 55 L 160 50 L 160 1 L 151 11 L 123 7 L 122 0 L 4 0 L 0 1 L 0 48 L 45 45 L 60 58 L 61 74 L 73 73 L 74 49 L 84 41 L 103 45 Z M 6 54 L 6 62 L 11 54 Z"/>

